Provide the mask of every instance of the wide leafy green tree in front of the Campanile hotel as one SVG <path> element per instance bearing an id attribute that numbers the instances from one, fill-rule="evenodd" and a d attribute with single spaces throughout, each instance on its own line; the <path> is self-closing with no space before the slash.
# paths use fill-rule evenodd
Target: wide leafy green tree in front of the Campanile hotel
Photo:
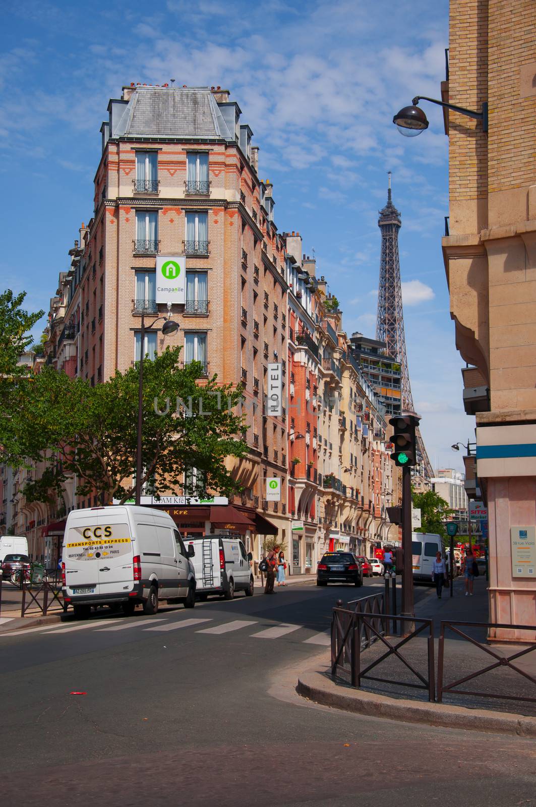
<path id="1" fill-rule="evenodd" d="M 235 411 L 241 388 L 219 385 L 216 376 L 199 384 L 201 364 L 180 368 L 179 352 L 167 349 L 154 361 L 144 360 L 142 483 L 149 480 L 157 491 L 177 494 L 185 472 L 195 468 L 189 495 L 231 494 L 240 485 L 225 459 L 245 454 L 245 443 L 237 438 L 242 418 Z M 56 500 L 72 475 L 77 495 L 97 491 L 107 502 L 132 497 L 138 378 L 137 365 L 95 387 L 48 366 L 36 375 L 23 410 L 14 416 L 14 462 L 48 461 L 40 479 L 27 484 L 28 500 Z"/>

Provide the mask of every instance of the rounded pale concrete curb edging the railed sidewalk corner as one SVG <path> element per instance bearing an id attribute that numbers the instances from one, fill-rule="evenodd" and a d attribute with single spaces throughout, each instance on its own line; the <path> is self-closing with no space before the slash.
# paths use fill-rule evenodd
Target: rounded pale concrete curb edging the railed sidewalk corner
<path id="1" fill-rule="evenodd" d="M 329 668 L 326 667 L 326 671 Z M 367 717 L 383 717 L 405 723 L 425 723 L 449 729 L 466 729 L 492 734 L 514 734 L 536 738 L 536 718 L 487 709 L 465 709 L 463 706 L 421 703 L 402 700 L 359 689 L 343 688 L 323 672 L 308 670 L 299 675 L 299 695 L 316 703 L 344 709 Z"/>

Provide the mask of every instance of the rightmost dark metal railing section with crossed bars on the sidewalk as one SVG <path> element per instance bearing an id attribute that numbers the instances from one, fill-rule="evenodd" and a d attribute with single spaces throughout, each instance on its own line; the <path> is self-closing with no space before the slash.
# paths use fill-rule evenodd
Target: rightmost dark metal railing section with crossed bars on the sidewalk
<path id="1" fill-rule="evenodd" d="M 507 667 L 509 670 L 512 670 L 517 675 L 521 675 L 521 677 L 530 681 L 530 683 L 534 684 L 534 686 L 536 687 L 536 678 L 534 678 L 533 675 L 529 675 L 528 672 L 520 670 L 519 667 L 516 667 L 516 665 L 512 663 L 516 659 L 521 659 L 521 656 L 525 656 L 528 653 L 532 653 L 533 650 L 536 650 L 536 642 L 531 643 L 523 650 L 517 650 L 517 652 L 513 654 L 503 656 L 496 653 L 496 651 L 492 650 L 492 648 L 489 647 L 488 645 L 484 645 L 482 642 L 478 642 L 472 636 L 469 636 L 467 633 L 464 633 L 463 630 L 460 630 L 460 628 L 481 628 L 484 629 L 486 633 L 488 633 L 489 629 L 494 628 L 536 631 L 536 626 L 534 625 L 505 625 L 504 623 L 500 622 L 459 622 L 459 621 L 443 620 L 439 632 L 439 650 L 438 650 L 439 703 L 442 702 L 444 692 L 452 692 L 452 694 L 455 695 L 467 695 L 470 697 L 478 696 L 484 698 L 500 698 L 500 700 L 522 700 L 522 701 L 528 701 L 530 703 L 536 703 L 536 689 L 534 690 L 535 695 L 534 697 L 526 697 L 520 695 L 505 695 L 498 692 L 475 692 L 475 690 L 455 689 L 455 687 L 459 687 L 461 684 L 467 684 L 467 681 L 474 680 L 475 678 L 478 678 L 479 675 L 484 675 L 485 673 L 491 672 L 492 670 L 496 670 L 499 667 Z M 458 637 L 464 639 L 467 642 L 471 642 L 471 644 L 475 645 L 476 647 L 479 647 L 479 649 L 482 650 L 484 653 L 492 656 L 492 659 L 495 659 L 495 662 L 492 664 L 488 664 L 487 667 L 481 667 L 479 670 L 471 672 L 469 675 L 463 675 L 463 678 L 451 681 L 450 684 L 445 684 L 444 682 L 445 655 L 446 655 L 445 633 L 447 630 L 451 630 Z"/>

